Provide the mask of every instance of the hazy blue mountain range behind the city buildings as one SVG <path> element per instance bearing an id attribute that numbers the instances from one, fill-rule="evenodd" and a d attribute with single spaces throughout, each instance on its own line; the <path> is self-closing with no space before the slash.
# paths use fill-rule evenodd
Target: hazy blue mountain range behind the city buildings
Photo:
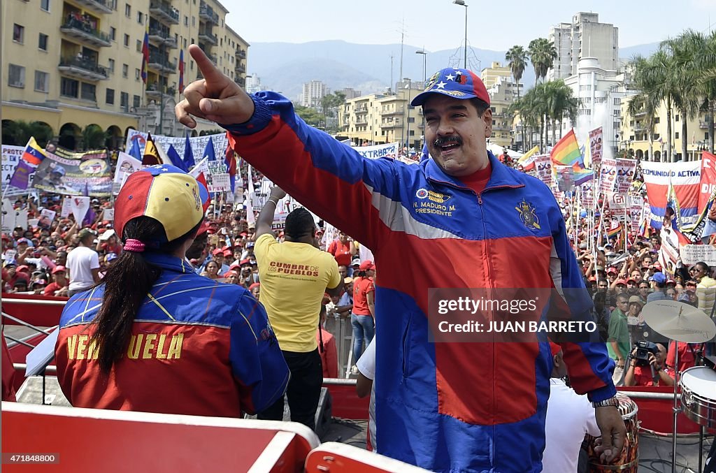
<path id="1" fill-rule="evenodd" d="M 620 48 L 619 57 L 630 59 L 634 54 L 648 55 L 659 43 Z M 261 77 L 267 89 L 281 92 L 290 99 L 301 94 L 301 84 L 317 79 L 332 91 L 352 87 L 363 94 L 383 92 L 401 78 L 400 44 L 355 44 L 340 40 L 308 43 L 253 43 L 248 51 L 248 72 Z M 402 47 L 402 77 L 423 79 L 422 49 L 405 44 Z M 427 52 L 425 74 L 442 67 L 462 67 L 463 48 Z M 479 72 L 493 62 L 505 64 L 504 51 L 468 48 L 468 69 Z M 528 65 L 522 80 L 526 87 L 535 82 Z M 393 85 L 392 87 L 395 87 Z"/>

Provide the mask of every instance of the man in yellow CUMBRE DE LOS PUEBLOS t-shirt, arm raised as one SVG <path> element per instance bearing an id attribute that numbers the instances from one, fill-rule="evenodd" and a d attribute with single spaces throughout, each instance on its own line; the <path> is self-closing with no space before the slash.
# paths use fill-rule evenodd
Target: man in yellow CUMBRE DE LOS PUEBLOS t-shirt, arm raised
<path id="1" fill-rule="evenodd" d="M 279 339 L 291 381 L 286 390 L 291 421 L 316 428 L 315 416 L 323 384 L 323 367 L 316 343 L 324 293 L 339 295 L 343 281 L 335 258 L 318 249 L 316 224 L 308 210 L 286 216 L 286 240 L 276 241 L 271 223 L 276 203 L 286 192 L 274 187 L 256 220 L 256 245 L 261 303 Z M 258 419 L 283 420 L 284 398 L 258 414 Z"/>

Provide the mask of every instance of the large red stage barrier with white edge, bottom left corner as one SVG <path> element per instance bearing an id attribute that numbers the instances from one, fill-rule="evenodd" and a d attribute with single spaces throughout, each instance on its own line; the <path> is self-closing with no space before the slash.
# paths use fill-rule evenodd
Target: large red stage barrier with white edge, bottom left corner
<path id="1" fill-rule="evenodd" d="M 2 404 L 6 472 L 300 472 L 319 443 L 292 422 Z M 7 464 L 13 453 L 59 461 Z"/>

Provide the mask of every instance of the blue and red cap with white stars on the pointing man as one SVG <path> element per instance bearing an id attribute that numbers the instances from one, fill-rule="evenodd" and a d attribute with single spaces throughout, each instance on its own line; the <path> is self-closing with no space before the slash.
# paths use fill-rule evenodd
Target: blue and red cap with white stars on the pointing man
<path id="1" fill-rule="evenodd" d="M 482 79 L 468 69 L 447 67 L 427 79 L 425 91 L 417 94 L 410 102 L 413 107 L 425 104 L 430 94 L 443 94 L 454 99 L 475 99 L 490 104 L 490 95 Z"/>

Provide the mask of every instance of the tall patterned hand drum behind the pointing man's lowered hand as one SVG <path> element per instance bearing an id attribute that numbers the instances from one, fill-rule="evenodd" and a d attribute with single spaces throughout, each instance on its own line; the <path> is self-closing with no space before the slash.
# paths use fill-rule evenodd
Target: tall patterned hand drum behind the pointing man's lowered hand
<path id="1" fill-rule="evenodd" d="M 624 449 L 621 450 L 621 455 L 613 459 L 609 464 L 601 464 L 599 454 L 594 451 L 596 437 L 587 435 L 590 473 L 637 473 L 637 469 L 639 469 L 639 420 L 637 419 L 639 407 L 626 394 L 617 392 L 616 399 L 619 400 L 619 414 L 621 414 L 621 419 L 624 419 L 624 426 L 627 427 Z"/>

